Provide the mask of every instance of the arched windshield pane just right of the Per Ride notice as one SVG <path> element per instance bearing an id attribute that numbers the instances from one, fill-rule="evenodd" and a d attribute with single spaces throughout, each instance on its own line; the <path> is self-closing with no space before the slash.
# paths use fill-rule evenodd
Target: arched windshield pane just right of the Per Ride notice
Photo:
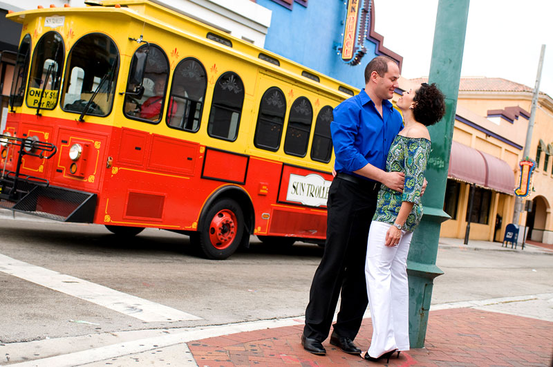
<path id="1" fill-rule="evenodd" d="M 119 53 L 111 38 L 101 33 L 86 35 L 75 42 L 67 57 L 62 109 L 87 115 L 106 116 L 111 112 Z"/>

